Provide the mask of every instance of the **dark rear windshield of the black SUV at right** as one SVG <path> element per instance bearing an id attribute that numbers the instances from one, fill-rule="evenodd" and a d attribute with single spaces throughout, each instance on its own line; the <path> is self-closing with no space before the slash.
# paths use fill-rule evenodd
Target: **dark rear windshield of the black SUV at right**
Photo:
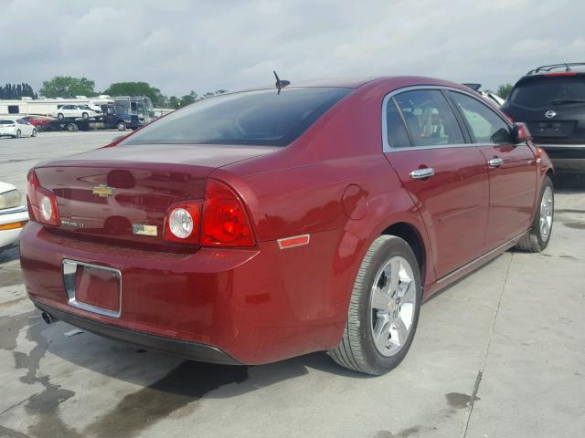
<path id="1" fill-rule="evenodd" d="M 548 108 L 553 100 L 585 99 L 585 79 L 544 78 L 518 84 L 509 100 L 519 107 Z"/>

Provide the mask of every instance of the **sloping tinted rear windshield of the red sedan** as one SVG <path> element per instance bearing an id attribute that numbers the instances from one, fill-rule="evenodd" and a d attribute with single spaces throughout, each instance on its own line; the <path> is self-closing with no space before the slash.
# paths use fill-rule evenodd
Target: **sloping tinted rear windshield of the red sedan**
<path id="1" fill-rule="evenodd" d="M 246 91 L 200 100 L 136 132 L 123 144 L 286 146 L 351 89 Z"/>

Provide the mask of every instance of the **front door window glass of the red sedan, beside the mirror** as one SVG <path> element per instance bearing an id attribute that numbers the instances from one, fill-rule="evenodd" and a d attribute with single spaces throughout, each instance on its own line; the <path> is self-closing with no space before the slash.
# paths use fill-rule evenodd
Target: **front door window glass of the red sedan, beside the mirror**
<path id="1" fill-rule="evenodd" d="M 510 128 L 494 110 L 462 93 L 451 91 L 450 94 L 467 121 L 476 142 L 493 144 L 512 142 Z"/>

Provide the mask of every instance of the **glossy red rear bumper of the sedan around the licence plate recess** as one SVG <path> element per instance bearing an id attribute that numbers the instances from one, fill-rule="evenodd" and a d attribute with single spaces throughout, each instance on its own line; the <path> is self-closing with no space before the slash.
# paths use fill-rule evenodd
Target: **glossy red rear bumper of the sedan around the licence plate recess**
<path id="1" fill-rule="evenodd" d="M 323 267 L 333 259 L 335 238 L 324 232 L 311 243 L 285 251 L 263 242 L 165 253 L 56 235 L 31 222 L 20 235 L 20 258 L 29 297 L 56 318 L 145 349 L 261 364 L 332 348 L 341 337 L 346 308 Z M 119 318 L 69 304 L 64 259 L 121 272 Z"/>

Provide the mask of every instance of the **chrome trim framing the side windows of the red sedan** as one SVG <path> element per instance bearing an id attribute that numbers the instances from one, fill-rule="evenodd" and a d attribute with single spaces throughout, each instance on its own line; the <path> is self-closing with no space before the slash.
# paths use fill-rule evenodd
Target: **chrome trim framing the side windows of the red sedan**
<path id="1" fill-rule="evenodd" d="M 406 91 L 413 91 L 413 90 L 418 90 L 418 89 L 432 89 L 432 90 L 437 90 L 437 91 L 441 91 L 441 94 L 443 95 L 444 99 L 447 100 L 447 103 L 449 104 L 449 106 L 451 107 L 451 110 L 453 111 L 453 116 L 455 117 L 455 120 L 457 120 L 457 123 L 460 125 L 459 129 L 462 130 L 462 134 L 463 134 L 463 139 L 465 141 L 468 141 L 466 143 L 461 143 L 461 144 L 437 144 L 437 145 L 432 145 L 432 146 L 401 146 L 401 147 L 396 147 L 396 148 L 392 148 L 390 147 L 390 144 L 388 143 L 388 121 L 387 119 L 387 108 L 388 108 L 388 101 L 390 101 L 390 99 L 392 100 L 392 102 L 394 102 L 394 97 L 397 96 L 400 93 L 404 93 Z M 392 91 L 390 91 L 386 96 L 384 96 L 384 99 L 382 100 L 382 151 L 384 153 L 387 152 L 398 152 L 398 151 L 418 151 L 418 150 L 427 150 L 427 149 L 451 149 L 451 148 L 469 148 L 469 147 L 475 147 L 478 144 L 483 144 L 483 143 L 473 143 L 473 137 L 472 134 L 469 132 L 469 129 L 467 127 L 467 124 L 464 124 L 463 126 L 461 126 L 461 122 L 462 120 L 460 120 L 460 113 L 458 112 L 458 110 L 456 108 L 453 108 L 453 104 L 452 104 L 452 99 L 449 98 L 449 96 L 445 96 L 444 91 L 455 91 L 458 93 L 462 93 L 464 95 L 470 96 L 473 99 L 478 100 L 480 103 L 482 103 L 482 101 L 480 99 L 477 99 L 476 96 L 473 96 L 472 93 L 464 90 L 464 89 L 456 89 L 454 87 L 448 87 L 448 86 L 444 86 L 444 85 L 412 85 L 409 87 L 402 87 L 400 89 L 394 89 Z M 399 110 L 399 114 L 400 117 L 402 118 L 402 111 L 398 108 L 397 105 L 397 109 Z M 494 111 L 495 112 L 495 111 Z M 496 112 L 497 114 L 497 112 Z M 512 125 L 510 124 L 509 120 L 505 120 L 503 119 L 499 114 L 498 116 L 500 117 L 500 119 L 505 121 L 505 124 L 508 125 L 508 127 L 512 127 Z M 404 120 L 402 119 L 402 122 L 404 123 Z M 463 123 L 465 123 L 465 120 L 463 120 Z M 410 130 L 407 127 L 407 132 L 410 134 Z M 492 143 L 490 143 L 492 144 Z"/>

